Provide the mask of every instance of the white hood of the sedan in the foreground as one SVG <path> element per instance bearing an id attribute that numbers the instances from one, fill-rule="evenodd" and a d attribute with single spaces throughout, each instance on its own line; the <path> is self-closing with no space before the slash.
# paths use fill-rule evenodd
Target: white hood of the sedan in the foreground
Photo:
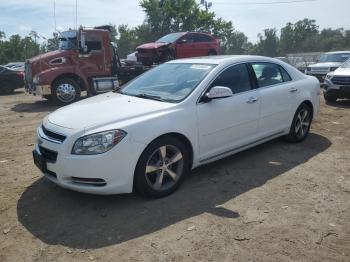
<path id="1" fill-rule="evenodd" d="M 165 113 L 175 104 L 107 93 L 73 103 L 51 113 L 47 120 L 69 129 L 88 129 Z"/>

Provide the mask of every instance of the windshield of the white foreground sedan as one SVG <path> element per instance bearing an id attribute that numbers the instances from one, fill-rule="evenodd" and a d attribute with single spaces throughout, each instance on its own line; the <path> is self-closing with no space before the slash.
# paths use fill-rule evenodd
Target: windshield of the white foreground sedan
<path id="1" fill-rule="evenodd" d="M 119 92 L 167 102 L 187 97 L 215 67 L 211 64 L 163 64 L 127 84 Z"/>

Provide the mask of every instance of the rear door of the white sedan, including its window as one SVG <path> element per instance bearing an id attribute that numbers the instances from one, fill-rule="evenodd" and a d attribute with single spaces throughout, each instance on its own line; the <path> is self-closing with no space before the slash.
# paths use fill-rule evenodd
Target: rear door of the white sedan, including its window
<path id="1" fill-rule="evenodd" d="M 260 97 L 259 136 L 266 137 L 282 132 L 290 126 L 293 105 L 298 89 L 280 65 L 251 63 Z"/>

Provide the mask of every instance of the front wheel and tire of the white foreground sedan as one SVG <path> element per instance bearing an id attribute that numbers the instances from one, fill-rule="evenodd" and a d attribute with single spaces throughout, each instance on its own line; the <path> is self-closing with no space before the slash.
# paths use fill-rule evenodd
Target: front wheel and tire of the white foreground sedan
<path id="1" fill-rule="evenodd" d="M 164 136 L 149 144 L 141 154 L 135 169 L 134 187 L 142 195 L 164 197 L 181 185 L 189 170 L 190 155 L 186 145 L 175 137 Z"/>

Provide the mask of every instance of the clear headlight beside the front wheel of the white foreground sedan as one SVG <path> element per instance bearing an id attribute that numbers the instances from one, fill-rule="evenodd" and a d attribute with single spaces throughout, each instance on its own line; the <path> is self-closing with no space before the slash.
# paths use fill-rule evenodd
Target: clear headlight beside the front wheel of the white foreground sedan
<path id="1" fill-rule="evenodd" d="M 79 138 L 73 146 L 74 155 L 97 155 L 111 150 L 125 136 L 123 130 L 109 130 Z"/>

